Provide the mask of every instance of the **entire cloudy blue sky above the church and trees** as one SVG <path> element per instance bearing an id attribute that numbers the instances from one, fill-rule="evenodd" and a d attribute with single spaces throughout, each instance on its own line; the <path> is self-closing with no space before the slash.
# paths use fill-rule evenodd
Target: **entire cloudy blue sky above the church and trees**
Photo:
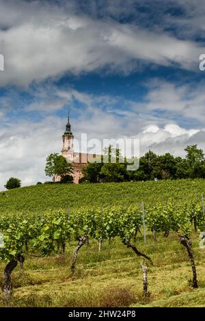
<path id="1" fill-rule="evenodd" d="M 205 0 L 0 0 L 0 190 L 75 138 L 205 151 Z"/>

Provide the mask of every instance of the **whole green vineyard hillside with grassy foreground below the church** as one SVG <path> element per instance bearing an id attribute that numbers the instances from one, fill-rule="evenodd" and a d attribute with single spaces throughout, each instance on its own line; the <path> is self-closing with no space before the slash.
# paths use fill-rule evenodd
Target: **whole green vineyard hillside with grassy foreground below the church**
<path id="1" fill-rule="evenodd" d="M 204 191 L 182 180 L 1 192 L 1 305 L 203 305 Z"/>

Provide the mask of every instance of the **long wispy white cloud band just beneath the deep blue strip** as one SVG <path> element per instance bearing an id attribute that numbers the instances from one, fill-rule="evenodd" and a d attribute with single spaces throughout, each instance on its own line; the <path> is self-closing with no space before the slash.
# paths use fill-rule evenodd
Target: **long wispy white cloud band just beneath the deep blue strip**
<path id="1" fill-rule="evenodd" d="M 38 94 L 38 103 L 32 103 L 25 108 L 29 110 L 48 110 L 53 112 L 69 105 L 69 109 L 78 115 L 84 113 L 84 110 L 90 110 L 90 115 L 96 110 L 101 109 L 107 114 L 112 114 L 115 119 L 132 120 L 137 117 L 137 124 L 147 122 L 148 125 L 163 125 L 167 120 L 173 122 L 190 123 L 194 126 L 202 127 L 205 120 L 205 94 L 204 81 L 188 84 L 175 83 L 161 79 L 152 79 L 143 84 L 146 88 L 146 94 L 141 101 L 127 99 L 122 95 L 111 94 L 93 94 L 79 92 L 73 88 L 57 88 L 49 86 L 44 94 Z M 34 93 L 35 94 L 35 93 Z M 47 97 L 52 97 L 48 99 Z M 51 106 L 49 108 L 49 106 Z M 76 110 L 77 108 L 77 110 Z M 128 128 L 130 123 L 126 121 Z M 142 125 L 139 126 L 141 128 Z M 136 127 L 135 127 L 136 128 Z"/>

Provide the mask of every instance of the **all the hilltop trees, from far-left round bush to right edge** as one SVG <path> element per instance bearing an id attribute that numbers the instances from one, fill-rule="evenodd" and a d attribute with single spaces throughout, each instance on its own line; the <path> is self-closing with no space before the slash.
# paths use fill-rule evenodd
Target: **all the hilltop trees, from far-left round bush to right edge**
<path id="1" fill-rule="evenodd" d="M 104 155 L 100 156 L 98 162 L 88 163 L 83 168 L 83 178 L 79 180 L 79 183 L 205 178 L 204 151 L 198 149 L 197 144 L 188 145 L 184 151 L 186 155 L 182 158 L 174 157 L 171 153 L 157 155 L 149 150 L 139 158 L 137 170 L 127 170 L 132 159 L 126 159 L 121 155 L 120 149 L 109 146 L 104 150 Z M 56 177 L 61 177 L 60 183 L 72 183 L 73 181 L 72 164 L 57 153 L 52 153 L 46 158 L 45 173 L 46 176 L 52 177 L 53 182 Z M 5 188 L 8 190 L 18 188 L 20 183 L 20 179 L 11 177 L 5 184 Z"/>

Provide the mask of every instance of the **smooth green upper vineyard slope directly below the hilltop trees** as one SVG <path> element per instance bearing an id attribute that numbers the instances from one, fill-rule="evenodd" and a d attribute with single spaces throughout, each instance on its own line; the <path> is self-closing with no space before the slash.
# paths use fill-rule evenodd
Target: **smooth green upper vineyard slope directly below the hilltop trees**
<path id="1" fill-rule="evenodd" d="M 43 211 L 84 205 L 153 203 L 169 197 L 199 199 L 204 179 L 139 181 L 101 184 L 51 184 L 17 188 L 0 193 L 0 211 Z"/>

